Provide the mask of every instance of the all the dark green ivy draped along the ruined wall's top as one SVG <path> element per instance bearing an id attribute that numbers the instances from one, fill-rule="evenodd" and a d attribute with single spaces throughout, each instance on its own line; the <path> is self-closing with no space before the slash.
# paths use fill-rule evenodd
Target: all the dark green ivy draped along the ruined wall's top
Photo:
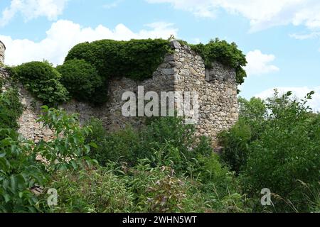
<path id="1" fill-rule="evenodd" d="M 206 67 L 210 68 L 214 61 L 221 62 L 236 69 L 238 84 L 244 82 L 246 73 L 242 67 L 247 61 L 235 43 L 215 39 L 206 45 L 190 46 L 203 57 Z M 75 45 L 64 64 L 56 68 L 48 62 L 29 62 L 11 72 L 44 104 L 53 106 L 73 97 L 100 105 L 108 99 L 111 78 L 149 79 L 165 55 L 173 51 L 169 40 L 163 39 L 98 40 Z"/>

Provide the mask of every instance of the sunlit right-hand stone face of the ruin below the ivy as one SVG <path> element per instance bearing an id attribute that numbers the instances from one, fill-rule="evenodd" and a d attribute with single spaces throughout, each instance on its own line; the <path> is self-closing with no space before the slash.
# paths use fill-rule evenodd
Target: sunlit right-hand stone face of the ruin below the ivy
<path id="1" fill-rule="evenodd" d="M 235 69 L 213 62 L 206 70 L 202 58 L 186 45 L 176 44 L 173 65 L 176 91 L 199 94 L 198 135 L 213 138 L 238 121 L 238 99 Z"/>

